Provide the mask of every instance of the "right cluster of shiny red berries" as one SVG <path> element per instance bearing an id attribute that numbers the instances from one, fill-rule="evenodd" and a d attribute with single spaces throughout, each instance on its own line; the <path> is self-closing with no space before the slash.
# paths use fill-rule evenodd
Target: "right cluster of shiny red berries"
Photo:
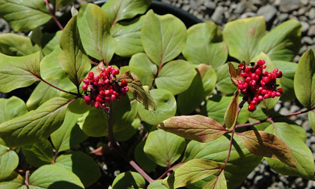
<path id="1" fill-rule="evenodd" d="M 278 68 L 267 72 L 264 70 L 267 67 L 265 63 L 265 60 L 258 60 L 256 64 L 252 62 L 251 66 L 242 63 L 238 65 L 244 80 L 238 80 L 237 88 L 248 99 L 249 111 L 255 110 L 255 105 L 263 99 L 279 97 L 283 93 L 283 89 L 277 89 L 279 85 L 276 84 L 276 78 L 281 78 L 282 72 Z"/>

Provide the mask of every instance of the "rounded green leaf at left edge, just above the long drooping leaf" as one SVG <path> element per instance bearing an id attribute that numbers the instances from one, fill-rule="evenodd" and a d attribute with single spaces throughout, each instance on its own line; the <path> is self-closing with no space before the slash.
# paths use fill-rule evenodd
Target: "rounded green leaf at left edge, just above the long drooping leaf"
<path id="1" fill-rule="evenodd" d="M 0 123 L 19 117 L 28 112 L 25 102 L 15 96 L 9 99 L 0 98 Z"/>

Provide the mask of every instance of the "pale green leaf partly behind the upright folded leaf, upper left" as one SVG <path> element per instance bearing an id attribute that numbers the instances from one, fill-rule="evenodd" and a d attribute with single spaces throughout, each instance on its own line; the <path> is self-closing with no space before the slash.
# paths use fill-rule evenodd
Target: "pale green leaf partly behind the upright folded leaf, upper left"
<path id="1" fill-rule="evenodd" d="M 57 45 L 53 52 L 44 56 L 40 61 L 40 75 L 46 81 L 62 79 L 65 75 L 58 61 L 58 56 L 63 50 Z"/>

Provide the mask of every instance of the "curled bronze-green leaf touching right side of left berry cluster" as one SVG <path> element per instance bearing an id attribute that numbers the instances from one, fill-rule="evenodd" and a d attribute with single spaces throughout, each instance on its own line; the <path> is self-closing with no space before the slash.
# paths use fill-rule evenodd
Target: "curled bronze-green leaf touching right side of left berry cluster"
<path id="1" fill-rule="evenodd" d="M 133 97 L 141 104 L 143 104 L 145 109 L 148 110 L 157 109 L 157 104 L 154 102 L 151 95 L 144 90 L 141 81 L 136 75 L 128 71 L 125 74 L 121 75 L 119 79 L 121 80 L 124 79 L 128 82 L 128 88 L 130 92 L 132 92 Z"/>

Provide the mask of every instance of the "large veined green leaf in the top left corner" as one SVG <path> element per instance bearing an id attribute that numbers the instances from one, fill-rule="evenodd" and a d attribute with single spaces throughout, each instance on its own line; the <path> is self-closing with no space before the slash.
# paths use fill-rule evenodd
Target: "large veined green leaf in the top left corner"
<path id="1" fill-rule="evenodd" d="M 51 19 L 43 0 L 0 0 L 0 17 L 14 31 L 28 31 Z"/>

